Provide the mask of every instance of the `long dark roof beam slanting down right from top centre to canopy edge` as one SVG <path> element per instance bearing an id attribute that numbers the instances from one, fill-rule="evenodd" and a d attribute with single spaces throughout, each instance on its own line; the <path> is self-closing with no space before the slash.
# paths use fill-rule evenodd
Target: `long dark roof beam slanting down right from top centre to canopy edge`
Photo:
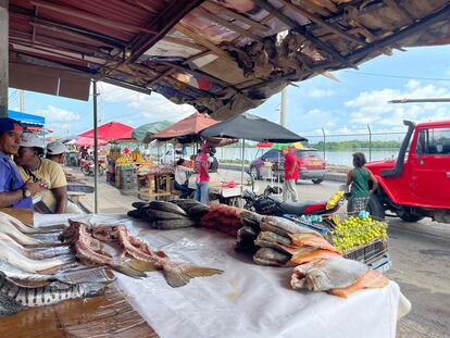
<path id="1" fill-rule="evenodd" d="M 284 22 L 286 25 L 291 27 L 292 30 L 301 34 L 304 36 L 308 40 L 314 43 L 316 48 L 322 49 L 324 52 L 326 52 L 328 55 L 330 55 L 336 61 L 339 61 L 346 65 L 351 66 L 352 68 L 358 70 L 357 65 L 348 61 L 346 58 L 343 58 L 335 48 L 320 39 L 317 39 L 314 35 L 312 35 L 310 32 L 308 32 L 303 26 L 299 25 L 296 21 L 291 20 L 287 15 L 285 15 L 280 10 L 273 7 L 271 3 L 268 3 L 265 0 L 253 0 L 255 3 L 258 3 L 262 9 L 266 10 L 268 13 L 272 13 L 275 17 Z"/>

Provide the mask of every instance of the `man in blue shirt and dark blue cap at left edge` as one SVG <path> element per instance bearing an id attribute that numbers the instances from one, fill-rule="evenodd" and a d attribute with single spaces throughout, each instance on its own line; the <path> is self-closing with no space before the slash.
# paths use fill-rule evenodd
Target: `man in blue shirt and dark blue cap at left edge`
<path id="1" fill-rule="evenodd" d="M 40 181 L 22 178 L 11 157 L 17 154 L 23 128 L 9 117 L 0 118 L 0 206 L 33 209 L 32 197 L 47 189 Z"/>

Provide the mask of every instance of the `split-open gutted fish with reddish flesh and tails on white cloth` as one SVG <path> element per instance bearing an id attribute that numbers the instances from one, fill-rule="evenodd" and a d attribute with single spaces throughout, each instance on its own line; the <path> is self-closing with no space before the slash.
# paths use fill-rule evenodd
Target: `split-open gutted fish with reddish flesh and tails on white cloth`
<path id="1" fill-rule="evenodd" d="M 172 287 L 184 286 L 193 277 L 222 273 L 216 268 L 174 262 L 163 251 L 153 251 L 146 242 L 132 236 L 123 225 L 88 226 L 71 221 L 61 237 L 86 265 L 108 265 L 135 278 L 161 270 Z"/>

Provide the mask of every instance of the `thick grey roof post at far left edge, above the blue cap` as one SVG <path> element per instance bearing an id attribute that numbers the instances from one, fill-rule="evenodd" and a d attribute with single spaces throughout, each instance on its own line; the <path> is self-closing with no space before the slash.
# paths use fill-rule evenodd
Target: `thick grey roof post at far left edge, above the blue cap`
<path id="1" fill-rule="evenodd" d="M 0 0 L 0 117 L 8 116 L 9 86 L 9 0 Z"/>

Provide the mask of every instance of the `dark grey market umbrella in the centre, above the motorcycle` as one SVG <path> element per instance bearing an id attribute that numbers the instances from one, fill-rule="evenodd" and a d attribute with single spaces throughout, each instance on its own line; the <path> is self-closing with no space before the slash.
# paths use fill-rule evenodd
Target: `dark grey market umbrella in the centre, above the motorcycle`
<path id="1" fill-rule="evenodd" d="M 245 113 L 230 120 L 220 122 L 200 133 L 205 137 L 224 137 L 264 142 L 307 141 L 280 125 L 265 118 Z"/>

